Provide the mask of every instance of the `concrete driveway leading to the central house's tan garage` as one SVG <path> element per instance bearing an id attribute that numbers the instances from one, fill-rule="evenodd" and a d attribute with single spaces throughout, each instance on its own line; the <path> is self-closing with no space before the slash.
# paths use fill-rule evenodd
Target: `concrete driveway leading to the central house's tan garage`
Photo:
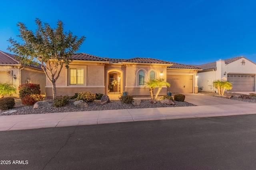
<path id="1" fill-rule="evenodd" d="M 186 93 L 185 101 L 198 106 L 248 104 L 248 102 L 223 99 L 202 94 Z"/>

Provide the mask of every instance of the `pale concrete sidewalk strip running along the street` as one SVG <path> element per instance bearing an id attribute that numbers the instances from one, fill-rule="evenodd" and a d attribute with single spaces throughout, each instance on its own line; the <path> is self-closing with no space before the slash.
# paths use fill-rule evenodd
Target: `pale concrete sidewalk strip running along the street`
<path id="1" fill-rule="evenodd" d="M 256 114 L 256 103 L 10 115 L 0 116 L 0 131 L 247 114 Z"/>

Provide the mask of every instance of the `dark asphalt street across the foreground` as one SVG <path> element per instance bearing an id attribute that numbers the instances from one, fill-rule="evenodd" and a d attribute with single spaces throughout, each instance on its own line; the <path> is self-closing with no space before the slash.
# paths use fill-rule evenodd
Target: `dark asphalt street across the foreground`
<path id="1" fill-rule="evenodd" d="M 256 115 L 0 132 L 1 170 L 254 170 Z"/>

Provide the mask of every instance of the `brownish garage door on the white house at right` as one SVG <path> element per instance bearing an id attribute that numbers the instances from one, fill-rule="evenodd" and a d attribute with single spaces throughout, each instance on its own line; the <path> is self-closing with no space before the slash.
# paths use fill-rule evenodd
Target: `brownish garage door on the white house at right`
<path id="1" fill-rule="evenodd" d="M 229 91 L 254 91 L 254 78 L 255 75 L 228 74 L 228 81 L 233 86 Z"/>

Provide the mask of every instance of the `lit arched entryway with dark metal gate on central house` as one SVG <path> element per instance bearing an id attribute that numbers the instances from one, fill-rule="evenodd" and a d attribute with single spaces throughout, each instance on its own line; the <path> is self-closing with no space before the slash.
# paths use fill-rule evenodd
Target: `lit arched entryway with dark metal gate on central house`
<path id="1" fill-rule="evenodd" d="M 109 69 L 106 82 L 107 94 L 121 94 L 123 91 L 123 71 L 120 69 Z"/>

